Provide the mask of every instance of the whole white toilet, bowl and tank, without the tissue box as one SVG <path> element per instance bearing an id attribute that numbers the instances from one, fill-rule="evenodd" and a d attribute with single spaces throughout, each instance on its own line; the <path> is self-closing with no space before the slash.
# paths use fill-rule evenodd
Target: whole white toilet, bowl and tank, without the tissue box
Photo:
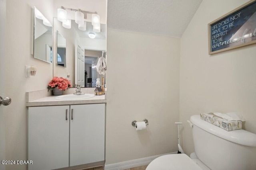
<path id="1" fill-rule="evenodd" d="M 256 170 L 256 134 L 243 129 L 226 131 L 200 118 L 190 117 L 195 152 L 166 154 L 146 170 Z"/>

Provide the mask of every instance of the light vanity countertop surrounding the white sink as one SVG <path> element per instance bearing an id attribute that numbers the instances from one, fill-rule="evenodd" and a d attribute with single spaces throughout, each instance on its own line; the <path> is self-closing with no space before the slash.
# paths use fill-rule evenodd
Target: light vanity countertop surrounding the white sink
<path id="1" fill-rule="evenodd" d="M 37 100 L 26 102 L 26 106 L 58 106 L 58 105 L 75 105 L 75 104 L 97 104 L 106 103 L 105 95 L 94 96 L 93 98 L 83 100 L 56 100 L 56 96 L 48 96 Z"/>

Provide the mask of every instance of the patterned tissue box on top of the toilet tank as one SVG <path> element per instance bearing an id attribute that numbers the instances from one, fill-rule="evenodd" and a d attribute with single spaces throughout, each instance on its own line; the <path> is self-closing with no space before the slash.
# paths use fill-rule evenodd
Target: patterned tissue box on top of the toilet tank
<path id="1" fill-rule="evenodd" d="M 202 120 L 212 123 L 222 129 L 225 129 L 226 131 L 242 129 L 242 121 L 227 121 L 214 115 L 213 113 L 203 113 L 200 115 Z"/>

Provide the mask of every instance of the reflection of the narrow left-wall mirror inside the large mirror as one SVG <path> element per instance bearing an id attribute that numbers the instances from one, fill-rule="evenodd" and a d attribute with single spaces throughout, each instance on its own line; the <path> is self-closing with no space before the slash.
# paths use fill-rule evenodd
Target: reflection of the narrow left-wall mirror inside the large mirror
<path id="1" fill-rule="evenodd" d="M 66 39 L 57 31 L 57 65 L 66 67 Z"/>

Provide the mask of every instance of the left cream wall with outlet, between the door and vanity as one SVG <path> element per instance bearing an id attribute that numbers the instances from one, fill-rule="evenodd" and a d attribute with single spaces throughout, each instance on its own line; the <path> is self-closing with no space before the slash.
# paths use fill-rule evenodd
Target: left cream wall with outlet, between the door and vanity
<path id="1" fill-rule="evenodd" d="M 34 59 L 34 6 L 52 23 L 52 0 L 6 1 L 6 160 L 27 160 L 27 112 L 25 92 L 42 90 L 52 78 L 52 64 Z M 25 77 L 25 65 L 36 65 L 35 77 Z M 26 170 L 26 165 L 10 165 L 7 170 Z"/>

